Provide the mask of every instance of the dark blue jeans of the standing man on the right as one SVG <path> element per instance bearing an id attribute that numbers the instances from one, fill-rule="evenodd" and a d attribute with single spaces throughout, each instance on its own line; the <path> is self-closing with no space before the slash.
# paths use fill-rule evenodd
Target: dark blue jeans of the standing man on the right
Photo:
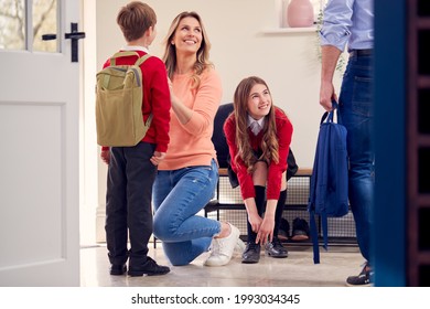
<path id="1" fill-rule="evenodd" d="M 359 251 L 366 260 L 370 258 L 375 187 L 373 81 L 373 56 L 351 56 L 338 99 L 342 122 L 347 130 L 350 204 Z"/>

